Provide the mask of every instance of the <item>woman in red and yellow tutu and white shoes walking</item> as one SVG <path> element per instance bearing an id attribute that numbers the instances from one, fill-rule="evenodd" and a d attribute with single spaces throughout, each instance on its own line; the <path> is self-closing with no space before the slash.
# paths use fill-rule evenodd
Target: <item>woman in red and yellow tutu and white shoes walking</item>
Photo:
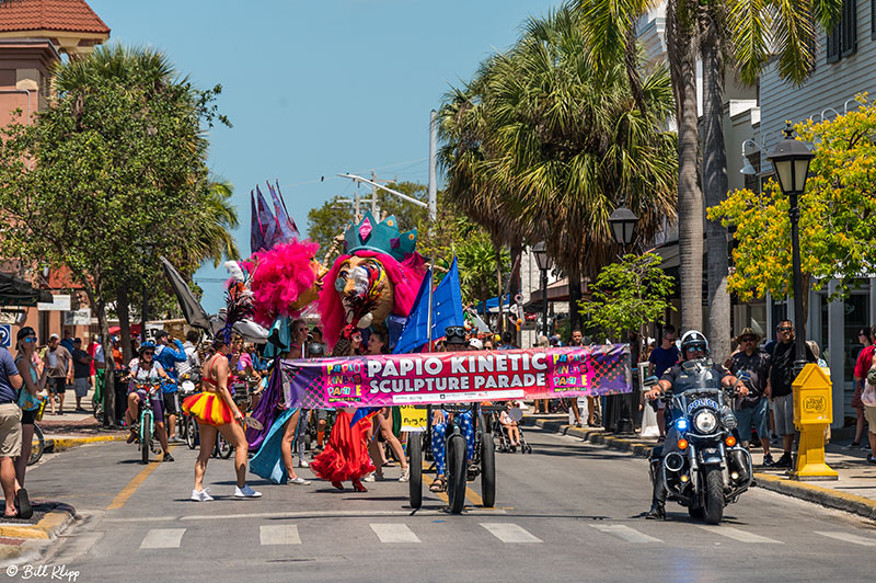
<path id="1" fill-rule="evenodd" d="M 210 459 L 216 444 L 217 432 L 234 446 L 234 469 L 238 477 L 234 496 L 261 498 L 261 492 L 246 485 L 249 445 L 241 426 L 243 413 L 238 409 L 228 390 L 228 357 L 231 345 L 228 339 L 222 338 L 220 333 L 214 339 L 214 348 L 216 348 L 216 353 L 204 363 L 201 368 L 204 392 L 187 397 L 183 401 L 183 412 L 197 420 L 200 432 L 200 451 L 195 461 L 195 489 L 192 491 L 192 500 L 196 502 L 212 500 L 212 496 L 204 489 L 204 473 L 207 471 L 207 461 Z"/>

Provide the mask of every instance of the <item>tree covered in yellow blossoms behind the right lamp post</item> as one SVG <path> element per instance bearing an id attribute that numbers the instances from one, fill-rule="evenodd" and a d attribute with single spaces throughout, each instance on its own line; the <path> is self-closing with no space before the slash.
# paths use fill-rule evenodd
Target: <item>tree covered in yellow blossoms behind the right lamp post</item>
<path id="1" fill-rule="evenodd" d="M 804 287 L 837 278 L 837 297 L 876 266 L 876 104 L 865 93 L 856 100 L 856 111 L 795 126 L 798 139 L 816 144 L 799 198 Z M 793 295 L 788 199 L 775 181 L 762 193 L 729 193 L 708 218 L 736 229 L 730 292 L 742 301 Z"/>

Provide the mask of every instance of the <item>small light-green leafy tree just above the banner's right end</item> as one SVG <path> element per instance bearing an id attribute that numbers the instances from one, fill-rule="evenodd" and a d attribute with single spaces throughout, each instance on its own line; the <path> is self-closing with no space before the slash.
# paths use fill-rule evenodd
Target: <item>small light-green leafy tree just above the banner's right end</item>
<path id="1" fill-rule="evenodd" d="M 591 299 L 580 302 L 588 328 L 596 333 L 622 339 L 630 330 L 643 331 L 648 323 L 662 324 L 673 278 L 660 268 L 662 259 L 654 253 L 627 254 L 607 265 L 591 285 Z M 644 335 L 644 332 L 641 334 Z"/>

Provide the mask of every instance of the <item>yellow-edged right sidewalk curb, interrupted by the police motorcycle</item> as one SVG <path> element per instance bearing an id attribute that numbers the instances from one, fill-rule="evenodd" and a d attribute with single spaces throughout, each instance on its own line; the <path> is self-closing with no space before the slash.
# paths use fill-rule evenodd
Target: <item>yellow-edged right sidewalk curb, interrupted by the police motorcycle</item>
<path id="1" fill-rule="evenodd" d="M 609 449 L 630 451 L 638 457 L 648 457 L 654 447 L 652 444 L 643 444 L 635 439 L 614 437 L 601 430 L 572 427 L 567 423 L 560 421 L 523 418 L 523 425 L 541 427 L 562 435 L 572 435 L 591 444 L 604 445 Z M 864 518 L 876 519 L 876 500 L 838 492 L 811 482 L 798 482 L 787 478 L 780 478 L 772 473 L 756 471 L 754 479 L 757 480 L 757 488 L 805 500 L 806 502 L 814 502 L 828 508 L 850 512 Z"/>

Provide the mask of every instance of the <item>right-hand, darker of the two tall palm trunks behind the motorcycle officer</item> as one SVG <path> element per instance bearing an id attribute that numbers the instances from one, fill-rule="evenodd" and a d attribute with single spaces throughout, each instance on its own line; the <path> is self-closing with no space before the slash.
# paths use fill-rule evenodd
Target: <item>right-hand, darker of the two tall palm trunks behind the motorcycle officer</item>
<path id="1" fill-rule="evenodd" d="M 727 151 L 724 147 L 724 59 L 714 19 L 706 23 L 701 44 L 703 60 L 703 196 L 706 207 L 727 196 Z M 712 358 L 723 363 L 730 356 L 730 295 L 727 293 L 727 229 L 706 220 L 708 278 L 708 340 Z"/>

